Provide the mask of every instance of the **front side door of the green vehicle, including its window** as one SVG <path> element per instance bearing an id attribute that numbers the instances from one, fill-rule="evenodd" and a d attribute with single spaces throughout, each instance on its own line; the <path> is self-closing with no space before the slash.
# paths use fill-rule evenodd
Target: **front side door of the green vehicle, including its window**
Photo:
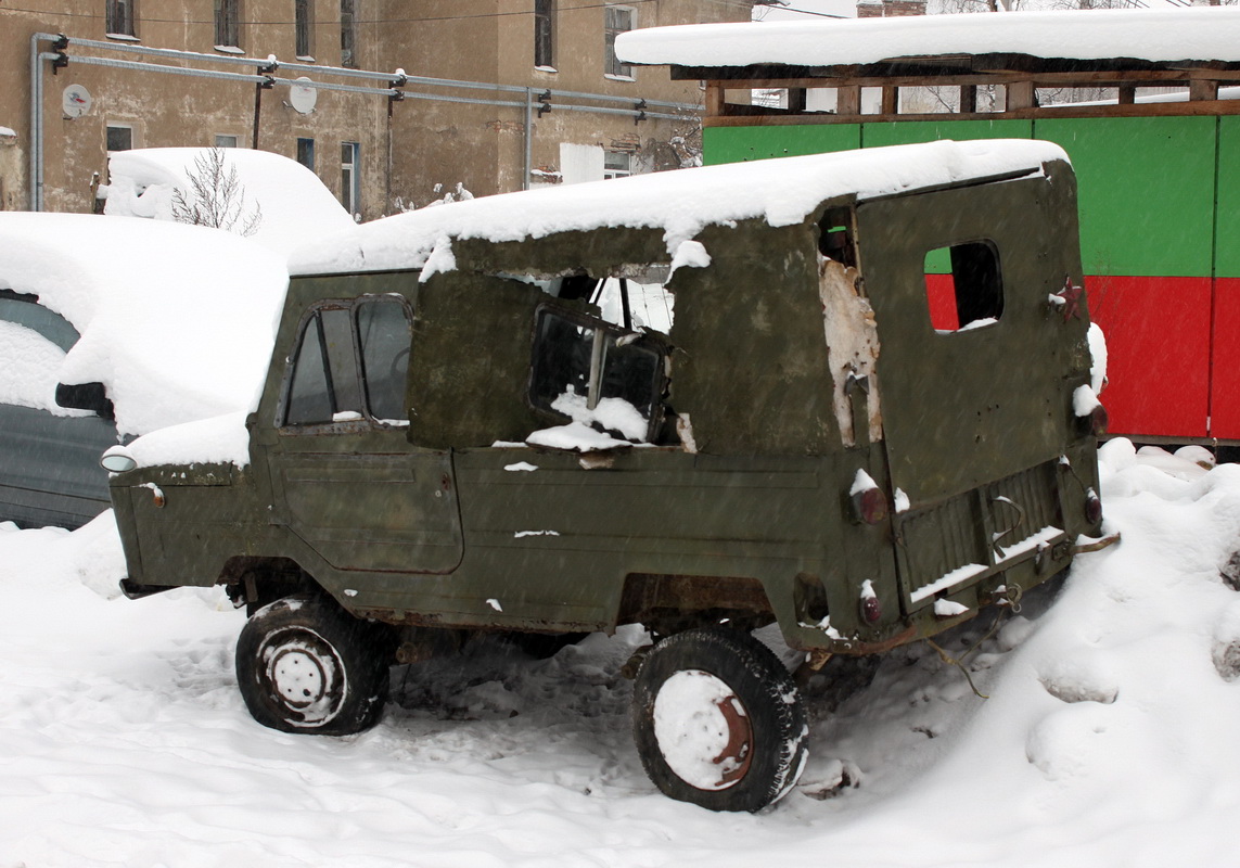
<path id="1" fill-rule="evenodd" d="M 409 444 L 401 295 L 304 315 L 268 450 L 275 520 L 339 569 L 450 573 L 463 554 L 448 450 Z"/>

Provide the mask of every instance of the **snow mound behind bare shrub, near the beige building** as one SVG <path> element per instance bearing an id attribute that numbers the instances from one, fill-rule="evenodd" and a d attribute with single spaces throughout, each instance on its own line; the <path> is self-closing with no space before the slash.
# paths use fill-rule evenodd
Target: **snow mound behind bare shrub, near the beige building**
<path id="1" fill-rule="evenodd" d="M 195 159 L 210 148 L 140 148 L 108 157 L 104 213 L 172 219 L 172 192 L 190 188 Z M 268 151 L 223 148 L 224 170 L 237 169 L 246 211 L 258 203 L 263 219 L 252 238 L 288 255 L 303 244 L 353 224 L 319 176 L 295 160 Z M 184 192 L 182 192 L 184 195 Z"/>

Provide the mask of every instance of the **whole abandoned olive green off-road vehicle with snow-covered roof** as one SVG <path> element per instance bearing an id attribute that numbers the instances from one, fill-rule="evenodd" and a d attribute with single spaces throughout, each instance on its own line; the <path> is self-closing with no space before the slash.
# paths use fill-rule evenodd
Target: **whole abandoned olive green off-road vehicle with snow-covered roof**
<path id="1" fill-rule="evenodd" d="M 655 784 L 796 782 L 794 678 L 931 636 L 1101 531 L 1075 180 L 935 143 L 494 196 L 295 262 L 244 419 L 104 456 L 128 595 L 249 609 L 253 715 L 345 734 L 480 631 L 641 624 Z"/>

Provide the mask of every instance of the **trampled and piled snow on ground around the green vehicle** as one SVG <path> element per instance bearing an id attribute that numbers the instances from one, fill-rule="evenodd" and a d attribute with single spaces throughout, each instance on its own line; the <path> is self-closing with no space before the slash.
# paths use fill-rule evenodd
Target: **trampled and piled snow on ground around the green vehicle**
<path id="1" fill-rule="evenodd" d="M 244 711 L 219 591 L 118 599 L 109 513 L 0 526 L 0 866 L 1235 864 L 1240 466 L 1192 458 L 1109 444 L 1123 542 L 996 635 L 983 614 L 940 639 L 985 639 L 966 665 L 990 699 L 926 644 L 837 713 L 812 682 L 810 765 L 758 816 L 646 780 L 632 630 L 397 667 L 376 729 L 286 735 Z"/>

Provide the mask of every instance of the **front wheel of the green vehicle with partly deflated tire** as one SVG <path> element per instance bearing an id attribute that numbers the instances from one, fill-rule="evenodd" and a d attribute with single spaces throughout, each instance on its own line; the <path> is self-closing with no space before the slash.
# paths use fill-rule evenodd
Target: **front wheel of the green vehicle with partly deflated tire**
<path id="1" fill-rule="evenodd" d="M 237 639 L 237 684 L 264 727 L 350 735 L 368 729 L 388 693 L 391 644 L 332 600 L 296 594 L 263 606 Z"/>

